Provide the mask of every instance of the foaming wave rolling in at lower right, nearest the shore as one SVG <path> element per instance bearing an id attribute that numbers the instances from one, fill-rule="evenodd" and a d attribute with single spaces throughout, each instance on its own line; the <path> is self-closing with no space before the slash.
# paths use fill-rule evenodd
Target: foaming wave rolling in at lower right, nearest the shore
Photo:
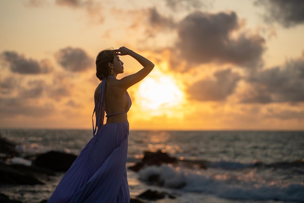
<path id="1" fill-rule="evenodd" d="M 193 170 L 172 165 L 148 166 L 138 173 L 139 180 L 158 186 L 216 195 L 226 199 L 276 200 L 301 202 L 304 200 L 303 184 L 282 184 L 265 181 L 244 173 L 220 173 Z M 251 174 L 252 175 L 252 174 Z"/>

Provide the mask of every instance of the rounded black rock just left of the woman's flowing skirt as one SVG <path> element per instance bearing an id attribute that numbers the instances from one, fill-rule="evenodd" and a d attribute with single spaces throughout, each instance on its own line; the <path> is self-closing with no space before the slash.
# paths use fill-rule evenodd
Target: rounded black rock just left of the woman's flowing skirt
<path id="1" fill-rule="evenodd" d="M 50 168 L 54 171 L 67 171 L 76 158 L 77 156 L 73 154 L 49 151 L 38 155 L 33 163 L 35 166 Z"/>

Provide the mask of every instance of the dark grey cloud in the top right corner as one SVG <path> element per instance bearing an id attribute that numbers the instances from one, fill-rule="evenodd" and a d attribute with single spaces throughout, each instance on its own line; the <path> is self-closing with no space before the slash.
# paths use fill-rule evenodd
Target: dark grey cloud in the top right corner
<path id="1" fill-rule="evenodd" d="M 304 0 L 256 0 L 254 3 L 266 8 L 267 22 L 278 22 L 287 28 L 304 23 Z"/>

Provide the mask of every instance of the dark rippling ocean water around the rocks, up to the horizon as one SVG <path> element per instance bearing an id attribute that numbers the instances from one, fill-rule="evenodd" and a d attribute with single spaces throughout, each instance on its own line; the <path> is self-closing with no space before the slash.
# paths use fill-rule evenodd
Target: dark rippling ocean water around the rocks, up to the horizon
<path id="1" fill-rule="evenodd" d="M 50 150 L 79 154 L 92 130 L 0 129 L 25 154 Z M 303 131 L 154 131 L 131 130 L 127 166 L 144 151 L 161 149 L 180 160 L 202 160 L 206 169 L 192 166 L 148 166 L 128 169 L 131 196 L 147 189 L 167 192 L 147 203 L 299 203 L 304 202 Z M 13 163 L 30 165 L 22 158 Z M 162 186 L 147 183 L 157 174 Z M 50 176 L 45 185 L 0 185 L 0 192 L 27 203 L 47 200 L 64 173 Z M 174 185 L 185 183 L 181 188 Z"/>

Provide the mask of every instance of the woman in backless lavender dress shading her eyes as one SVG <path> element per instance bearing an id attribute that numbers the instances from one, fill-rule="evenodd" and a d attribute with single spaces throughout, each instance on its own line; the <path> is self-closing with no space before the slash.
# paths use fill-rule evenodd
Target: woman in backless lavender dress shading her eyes
<path id="1" fill-rule="evenodd" d="M 143 68 L 120 80 L 123 62 L 130 55 Z M 94 94 L 96 126 L 93 138 L 79 154 L 48 203 L 129 203 L 126 159 L 131 99 L 127 89 L 146 77 L 154 64 L 126 47 L 103 50 L 96 58 L 96 76 L 102 80 Z M 103 118 L 106 112 L 106 124 Z M 97 128 L 97 132 L 96 132 Z"/>

